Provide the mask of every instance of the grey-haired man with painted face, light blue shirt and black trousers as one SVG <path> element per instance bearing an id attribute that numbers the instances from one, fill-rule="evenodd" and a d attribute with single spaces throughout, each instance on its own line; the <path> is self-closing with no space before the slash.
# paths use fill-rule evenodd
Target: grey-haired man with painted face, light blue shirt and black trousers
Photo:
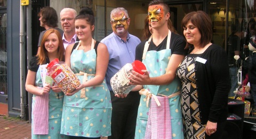
<path id="1" fill-rule="evenodd" d="M 115 8 L 110 13 L 113 33 L 101 42 L 108 47 L 109 63 L 106 73 L 107 85 L 112 101 L 111 137 L 109 138 L 134 138 L 136 118 L 140 101 L 138 91 L 130 92 L 125 98 L 115 97 L 110 86 L 110 78 L 125 64 L 132 63 L 135 59 L 135 48 L 140 44 L 140 39 L 128 33 L 131 19 L 123 7 Z"/>

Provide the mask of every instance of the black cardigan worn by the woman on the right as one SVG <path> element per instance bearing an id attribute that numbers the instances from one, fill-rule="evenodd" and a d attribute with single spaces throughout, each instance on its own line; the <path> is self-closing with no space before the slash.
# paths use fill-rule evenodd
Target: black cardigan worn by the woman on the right
<path id="1" fill-rule="evenodd" d="M 212 44 L 198 57 L 207 61 L 195 64 L 201 124 L 227 120 L 230 90 L 229 66 L 226 51 Z"/>

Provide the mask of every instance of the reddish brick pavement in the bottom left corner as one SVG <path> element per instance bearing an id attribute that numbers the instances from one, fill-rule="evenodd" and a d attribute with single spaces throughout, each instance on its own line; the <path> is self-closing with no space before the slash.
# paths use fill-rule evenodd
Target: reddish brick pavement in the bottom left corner
<path id="1" fill-rule="evenodd" d="M 31 124 L 20 118 L 0 115 L 0 138 L 2 139 L 30 139 Z"/>

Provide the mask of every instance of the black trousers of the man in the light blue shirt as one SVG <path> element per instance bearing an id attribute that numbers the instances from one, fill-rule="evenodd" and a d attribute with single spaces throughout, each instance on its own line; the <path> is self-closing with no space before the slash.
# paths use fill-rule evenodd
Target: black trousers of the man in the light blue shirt
<path id="1" fill-rule="evenodd" d="M 132 139 L 135 136 L 136 119 L 140 103 L 138 91 L 130 92 L 126 98 L 117 98 L 110 91 L 112 102 L 111 139 Z"/>

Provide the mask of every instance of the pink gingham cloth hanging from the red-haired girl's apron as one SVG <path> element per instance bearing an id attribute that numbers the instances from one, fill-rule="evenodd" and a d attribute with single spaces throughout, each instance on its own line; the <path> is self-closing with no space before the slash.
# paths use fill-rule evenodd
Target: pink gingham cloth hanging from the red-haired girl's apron
<path id="1" fill-rule="evenodd" d="M 36 96 L 33 116 L 33 134 L 49 134 L 49 93 Z"/>

